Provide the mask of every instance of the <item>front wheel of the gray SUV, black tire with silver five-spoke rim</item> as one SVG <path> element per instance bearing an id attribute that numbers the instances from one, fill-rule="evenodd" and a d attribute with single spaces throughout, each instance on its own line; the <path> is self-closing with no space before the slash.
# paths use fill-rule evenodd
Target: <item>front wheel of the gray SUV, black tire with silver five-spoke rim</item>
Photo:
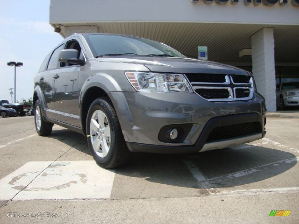
<path id="1" fill-rule="evenodd" d="M 112 169 L 129 161 L 131 153 L 109 98 L 97 98 L 90 105 L 86 119 L 86 135 L 91 155 L 101 167 Z"/>

